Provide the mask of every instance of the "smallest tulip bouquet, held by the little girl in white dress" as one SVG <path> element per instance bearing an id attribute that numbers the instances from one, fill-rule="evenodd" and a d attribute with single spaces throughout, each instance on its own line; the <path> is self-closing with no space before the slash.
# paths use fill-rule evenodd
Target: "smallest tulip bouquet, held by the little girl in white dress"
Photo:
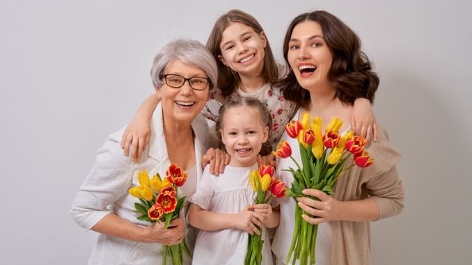
<path id="1" fill-rule="evenodd" d="M 254 204 L 269 202 L 273 197 L 282 198 L 285 196 L 285 183 L 274 177 L 275 168 L 272 166 L 260 166 L 258 170 L 252 170 L 250 179 L 251 187 L 255 192 Z M 270 191 L 269 193 L 267 191 Z M 260 229 L 260 227 L 258 227 Z M 262 264 L 262 246 L 264 240 L 262 234 L 249 235 L 245 265 Z"/>

